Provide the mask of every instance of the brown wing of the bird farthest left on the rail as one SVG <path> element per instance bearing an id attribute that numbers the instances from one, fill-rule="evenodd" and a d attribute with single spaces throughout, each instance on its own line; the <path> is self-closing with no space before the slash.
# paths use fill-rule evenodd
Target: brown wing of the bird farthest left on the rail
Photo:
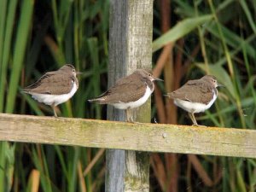
<path id="1" fill-rule="evenodd" d="M 38 81 L 23 91 L 27 93 L 39 93 L 49 95 L 67 94 L 73 86 L 73 76 L 62 73 L 45 73 Z"/>

